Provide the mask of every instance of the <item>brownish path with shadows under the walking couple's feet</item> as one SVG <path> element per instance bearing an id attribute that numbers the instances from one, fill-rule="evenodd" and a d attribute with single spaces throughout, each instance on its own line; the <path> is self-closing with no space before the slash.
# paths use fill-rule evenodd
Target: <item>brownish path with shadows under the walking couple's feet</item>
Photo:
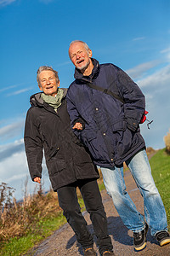
<path id="1" fill-rule="evenodd" d="M 143 199 L 137 189 L 136 184 L 133 181 L 133 177 L 129 171 L 125 172 L 125 182 L 127 185 L 127 192 L 133 199 L 139 212 L 144 214 Z M 101 192 L 103 203 L 105 206 L 105 212 L 108 220 L 108 230 L 111 236 L 111 240 L 114 247 L 114 253 L 116 256 L 170 256 L 170 244 L 160 247 L 156 240 L 150 236 L 150 230 L 147 234 L 147 247 L 141 252 L 134 252 L 133 250 L 133 232 L 127 230 L 126 226 L 122 223 L 121 218 L 116 212 L 111 197 L 106 194 L 106 191 Z M 88 228 L 92 234 L 94 230 L 89 218 L 88 212 L 83 212 L 84 218 L 88 222 Z M 96 247 L 96 240 L 94 236 L 94 248 L 98 255 L 99 251 Z M 71 230 L 69 224 L 65 224 L 61 229 L 56 230 L 52 236 L 42 241 L 37 247 L 34 247 L 30 253 L 25 255 L 33 256 L 54 256 L 54 255 L 83 255 L 82 247 L 77 243 L 76 236 Z"/>

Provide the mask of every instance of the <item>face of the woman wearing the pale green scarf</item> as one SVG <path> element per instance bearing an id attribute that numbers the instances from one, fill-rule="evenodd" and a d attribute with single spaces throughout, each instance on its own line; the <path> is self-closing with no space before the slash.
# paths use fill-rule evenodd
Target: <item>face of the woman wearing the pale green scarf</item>
<path id="1" fill-rule="evenodd" d="M 43 70 L 39 74 L 39 82 L 40 90 L 42 90 L 46 95 L 55 96 L 57 94 L 59 83 L 56 82 L 56 77 L 53 71 Z"/>

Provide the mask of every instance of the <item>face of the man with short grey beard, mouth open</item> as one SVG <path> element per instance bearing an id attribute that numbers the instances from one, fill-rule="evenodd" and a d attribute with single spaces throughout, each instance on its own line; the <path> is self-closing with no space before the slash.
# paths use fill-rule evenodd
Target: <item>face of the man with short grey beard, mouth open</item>
<path id="1" fill-rule="evenodd" d="M 80 42 L 71 44 L 69 55 L 72 63 L 80 70 L 86 69 L 90 64 L 92 57 L 91 49 L 85 49 L 84 45 Z"/>

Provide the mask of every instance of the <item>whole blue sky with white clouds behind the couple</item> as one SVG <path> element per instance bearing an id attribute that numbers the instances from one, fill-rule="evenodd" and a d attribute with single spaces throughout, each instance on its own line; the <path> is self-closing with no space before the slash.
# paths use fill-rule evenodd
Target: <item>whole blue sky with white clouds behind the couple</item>
<path id="1" fill-rule="evenodd" d="M 150 130 L 141 125 L 147 147 L 164 148 L 170 128 L 169 0 L 0 0 L 0 183 L 24 195 L 28 176 L 23 144 L 29 98 L 38 90 L 37 68 L 52 66 L 68 87 L 74 67 L 72 40 L 88 43 L 100 63 L 121 67 L 146 97 Z M 49 188 L 43 163 L 43 186 Z"/>

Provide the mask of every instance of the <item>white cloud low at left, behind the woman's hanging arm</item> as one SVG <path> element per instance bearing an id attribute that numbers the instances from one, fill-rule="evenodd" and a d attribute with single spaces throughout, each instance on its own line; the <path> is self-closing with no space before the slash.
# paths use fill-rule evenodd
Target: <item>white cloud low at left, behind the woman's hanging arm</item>
<path id="1" fill-rule="evenodd" d="M 31 181 L 31 177 L 29 174 L 26 153 L 25 149 L 21 148 L 18 151 L 17 146 L 23 145 L 23 140 L 20 140 L 15 143 L 8 144 L 5 149 L 8 149 L 8 152 L 13 152 L 13 154 L 8 154 L 6 158 L 0 160 L 0 183 L 7 183 L 9 187 L 16 189 L 14 192 L 14 197 L 17 200 L 20 200 L 24 196 L 25 191 L 25 183 L 28 177 L 28 194 L 32 194 L 35 192 L 37 188 L 37 183 L 33 183 Z M 15 149 L 14 149 L 15 147 Z M 3 150 L 4 147 L 1 146 L 0 150 Z M 6 152 L 7 153 L 7 152 Z M 43 161 L 43 172 L 42 172 L 42 183 L 44 190 L 48 190 L 50 188 L 50 182 L 48 178 L 48 172 L 46 167 L 44 168 Z"/>

